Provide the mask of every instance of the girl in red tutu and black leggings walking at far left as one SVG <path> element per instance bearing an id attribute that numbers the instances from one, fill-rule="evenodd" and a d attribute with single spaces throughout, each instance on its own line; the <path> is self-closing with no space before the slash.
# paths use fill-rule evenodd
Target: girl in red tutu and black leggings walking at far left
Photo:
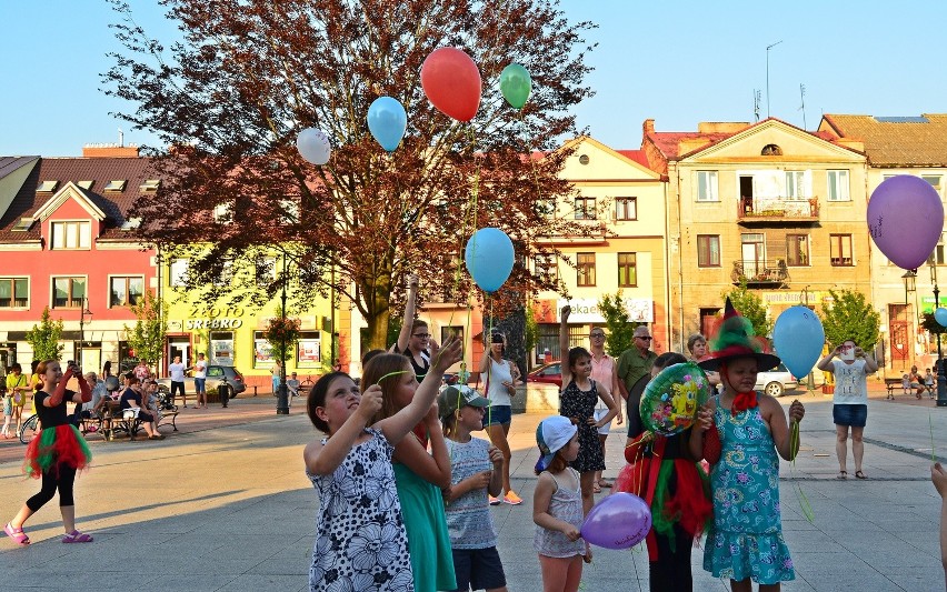
<path id="1" fill-rule="evenodd" d="M 69 402 L 82 404 L 92 400 L 92 391 L 73 364 L 66 373 L 56 360 L 41 362 L 37 368 L 41 382 L 37 385 L 33 399 L 42 431 L 33 438 L 27 448 L 23 471 L 33 479 L 42 478 L 42 489 L 27 500 L 16 518 L 7 523 L 3 531 L 18 544 L 30 544 L 23 532 L 23 523 L 43 506 L 59 490 L 59 510 L 62 512 L 62 525 L 66 528 L 63 543 L 88 543 L 92 538 L 76 530 L 76 506 L 72 501 L 72 483 L 76 472 L 84 469 L 92 460 L 86 440 L 69 422 L 66 405 Z M 81 393 L 66 389 L 69 379 L 76 377 Z"/>

